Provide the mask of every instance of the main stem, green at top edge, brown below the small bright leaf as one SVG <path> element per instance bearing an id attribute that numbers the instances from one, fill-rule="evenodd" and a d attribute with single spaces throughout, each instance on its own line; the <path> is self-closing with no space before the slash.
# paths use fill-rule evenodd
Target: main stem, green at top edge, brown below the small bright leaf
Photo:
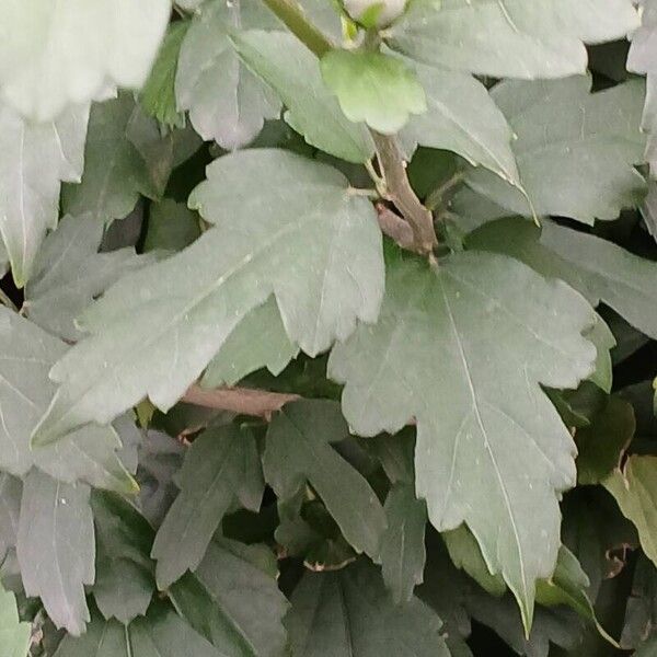
<path id="1" fill-rule="evenodd" d="M 306 16 L 297 0 L 263 0 L 288 26 L 290 32 L 316 57 L 322 57 L 334 46 Z M 437 244 L 431 212 L 425 208 L 411 187 L 406 163 L 394 136 L 370 129 L 377 159 L 385 183 L 387 198 L 394 203 L 413 230 L 413 249 L 428 255 Z M 379 185 L 379 181 L 373 178 Z"/>

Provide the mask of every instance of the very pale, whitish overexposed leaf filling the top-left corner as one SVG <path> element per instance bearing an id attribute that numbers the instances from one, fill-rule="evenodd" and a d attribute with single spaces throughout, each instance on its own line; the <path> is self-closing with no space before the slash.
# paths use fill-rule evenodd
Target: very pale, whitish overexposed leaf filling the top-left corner
<path id="1" fill-rule="evenodd" d="M 170 11 L 170 0 L 2 0 L 0 94 L 44 122 L 116 85 L 137 89 Z"/>

